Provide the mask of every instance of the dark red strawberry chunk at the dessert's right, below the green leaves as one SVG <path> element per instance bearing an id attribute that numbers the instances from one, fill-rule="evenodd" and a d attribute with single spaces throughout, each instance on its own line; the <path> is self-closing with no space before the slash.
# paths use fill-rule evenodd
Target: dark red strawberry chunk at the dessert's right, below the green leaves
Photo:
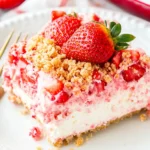
<path id="1" fill-rule="evenodd" d="M 128 67 L 127 70 L 122 71 L 123 79 L 127 82 L 133 80 L 139 80 L 145 73 L 145 68 L 143 68 L 140 64 L 133 64 Z"/>

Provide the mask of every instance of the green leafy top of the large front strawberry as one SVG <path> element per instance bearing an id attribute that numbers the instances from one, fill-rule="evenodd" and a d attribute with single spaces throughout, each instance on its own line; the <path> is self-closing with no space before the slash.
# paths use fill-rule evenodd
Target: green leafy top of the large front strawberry
<path id="1" fill-rule="evenodd" d="M 105 21 L 106 27 L 107 22 Z M 131 42 L 135 39 L 135 36 L 132 34 L 120 34 L 121 33 L 121 24 L 116 22 L 110 22 L 109 27 L 107 27 L 110 31 L 110 34 L 113 38 L 114 44 L 115 44 L 115 50 L 123 50 L 127 49 L 129 44 L 128 42 Z"/>

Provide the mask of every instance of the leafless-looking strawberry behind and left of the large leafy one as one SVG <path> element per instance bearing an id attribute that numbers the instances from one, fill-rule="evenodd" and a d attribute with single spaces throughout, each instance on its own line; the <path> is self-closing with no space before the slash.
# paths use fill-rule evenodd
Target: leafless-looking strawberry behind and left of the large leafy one
<path id="1" fill-rule="evenodd" d="M 81 20 L 76 16 L 65 15 L 50 22 L 43 31 L 43 36 L 55 40 L 56 44 L 62 46 L 80 27 Z"/>

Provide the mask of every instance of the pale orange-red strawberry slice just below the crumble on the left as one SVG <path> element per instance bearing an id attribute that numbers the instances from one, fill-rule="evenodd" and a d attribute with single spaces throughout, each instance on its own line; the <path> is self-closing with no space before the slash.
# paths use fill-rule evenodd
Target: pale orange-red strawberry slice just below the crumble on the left
<path id="1" fill-rule="evenodd" d="M 54 80 L 51 84 L 45 89 L 50 92 L 52 95 L 56 95 L 61 92 L 64 88 L 64 84 L 59 80 Z"/>

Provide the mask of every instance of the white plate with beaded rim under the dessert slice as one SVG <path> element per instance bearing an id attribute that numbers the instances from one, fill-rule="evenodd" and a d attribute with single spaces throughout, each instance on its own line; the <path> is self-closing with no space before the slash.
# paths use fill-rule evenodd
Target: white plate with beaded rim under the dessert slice
<path id="1" fill-rule="evenodd" d="M 136 36 L 132 45 L 136 48 L 145 49 L 150 54 L 150 24 L 148 22 L 104 9 L 63 9 L 67 12 L 77 11 L 83 14 L 94 12 L 104 19 L 119 21 L 123 26 L 123 32 L 129 32 Z M 12 29 L 16 31 L 15 36 L 19 32 L 28 33 L 30 36 L 35 34 L 49 20 L 50 12 L 51 10 L 45 10 L 0 23 L 0 46 Z M 4 60 L 5 57 L 0 60 L 0 64 Z M 37 125 L 37 122 L 30 116 L 23 116 L 20 113 L 22 109 L 22 107 L 11 104 L 7 95 L 0 102 L 0 150 L 34 150 L 37 146 L 41 146 L 44 150 L 51 148 L 52 146 L 46 140 L 35 142 L 28 136 L 29 130 L 33 125 Z M 141 123 L 138 117 L 133 117 L 110 126 L 106 131 L 96 133 L 92 139 L 79 148 L 70 144 L 63 147 L 62 150 L 69 150 L 70 148 L 79 150 L 145 150 L 150 148 L 149 139 L 150 121 Z"/>

